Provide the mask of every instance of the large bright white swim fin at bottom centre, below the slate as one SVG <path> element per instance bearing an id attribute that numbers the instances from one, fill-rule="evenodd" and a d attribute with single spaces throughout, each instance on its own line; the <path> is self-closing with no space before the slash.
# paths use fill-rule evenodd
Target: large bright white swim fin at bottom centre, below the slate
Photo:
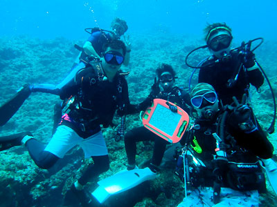
<path id="1" fill-rule="evenodd" d="M 111 177 L 98 181 L 99 186 L 93 191 L 92 195 L 102 204 L 111 195 L 134 188 L 144 181 L 156 178 L 156 176 L 156 173 L 152 172 L 150 168 L 123 170 Z"/>

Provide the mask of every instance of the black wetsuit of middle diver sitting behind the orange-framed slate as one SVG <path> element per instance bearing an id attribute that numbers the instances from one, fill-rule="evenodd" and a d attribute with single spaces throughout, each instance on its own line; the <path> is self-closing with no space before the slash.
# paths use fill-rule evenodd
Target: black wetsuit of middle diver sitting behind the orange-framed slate
<path id="1" fill-rule="evenodd" d="M 160 92 L 157 96 L 158 99 L 168 100 L 172 103 L 177 104 L 186 112 L 189 112 L 189 95 L 184 90 L 178 87 L 172 88 L 170 92 Z M 125 137 L 125 150 L 127 153 L 128 164 L 135 164 L 136 157 L 136 142 L 138 141 L 154 141 L 154 150 L 152 155 L 152 164 L 159 166 L 161 160 L 163 159 L 163 154 L 166 150 L 166 144 L 168 141 L 162 139 L 161 137 L 155 135 L 153 132 L 145 128 L 144 126 L 133 128 L 129 130 Z"/>

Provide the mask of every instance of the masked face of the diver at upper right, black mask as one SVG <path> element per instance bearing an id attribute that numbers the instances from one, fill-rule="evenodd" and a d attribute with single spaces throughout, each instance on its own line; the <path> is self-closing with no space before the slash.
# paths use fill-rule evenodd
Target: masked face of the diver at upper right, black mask
<path id="1" fill-rule="evenodd" d="M 229 54 L 231 48 L 232 37 L 226 30 L 220 30 L 217 34 L 211 35 L 207 41 L 208 48 L 217 58 L 221 58 Z"/>

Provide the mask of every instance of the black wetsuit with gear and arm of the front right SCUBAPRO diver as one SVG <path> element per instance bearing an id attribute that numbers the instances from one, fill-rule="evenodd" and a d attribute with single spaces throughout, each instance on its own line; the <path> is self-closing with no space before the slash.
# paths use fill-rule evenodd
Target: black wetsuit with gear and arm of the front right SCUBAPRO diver
<path id="1" fill-rule="evenodd" d="M 213 121 L 195 120 L 195 126 L 197 127 L 186 131 L 180 141 L 183 145 L 188 142 L 188 146 L 202 148 L 202 152 L 197 152 L 197 150 L 191 148 L 195 157 L 203 161 L 206 166 L 195 167 L 191 171 L 190 176 L 193 183 L 196 186 L 214 186 L 217 176 L 220 176 L 222 177 L 221 187 L 233 188 L 234 190 L 265 190 L 264 175 L 257 157 L 270 158 L 273 154 L 273 146 L 264 137 L 265 135 L 260 128 L 249 133 L 240 130 L 238 124 L 235 124 L 231 119 L 230 112 L 224 124 L 224 136 L 219 135 L 223 139 L 220 149 L 226 152 L 226 159 L 229 162 L 225 163 L 215 158 L 215 151 L 218 146 L 213 133 L 220 134 L 217 127 L 220 124 L 219 120 L 223 112 L 223 110 L 218 112 Z M 193 141 L 193 139 L 196 141 Z M 241 181 L 241 184 L 236 183 L 239 181 Z"/>

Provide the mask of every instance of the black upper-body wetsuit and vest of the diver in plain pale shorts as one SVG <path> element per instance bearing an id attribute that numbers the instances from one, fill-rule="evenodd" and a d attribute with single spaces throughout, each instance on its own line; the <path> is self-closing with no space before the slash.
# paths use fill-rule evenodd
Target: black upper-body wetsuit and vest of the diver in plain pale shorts
<path id="1" fill-rule="evenodd" d="M 62 119 L 61 124 L 73 128 L 81 137 L 91 136 L 89 131 L 100 124 L 104 128 L 112 126 L 114 112 L 118 108 L 122 108 L 123 114 L 139 112 L 139 108 L 129 103 L 128 86 L 124 76 L 118 72 L 112 82 L 107 79 L 99 80 L 98 76 L 102 72 L 99 69 L 92 70 L 92 67 L 87 67 L 80 70 L 75 77 L 76 84 L 65 88 L 60 95 L 61 99 L 76 97 L 73 104 L 75 106 L 68 112 L 71 120 Z M 140 107 L 145 109 L 149 103 L 150 100 Z"/>

